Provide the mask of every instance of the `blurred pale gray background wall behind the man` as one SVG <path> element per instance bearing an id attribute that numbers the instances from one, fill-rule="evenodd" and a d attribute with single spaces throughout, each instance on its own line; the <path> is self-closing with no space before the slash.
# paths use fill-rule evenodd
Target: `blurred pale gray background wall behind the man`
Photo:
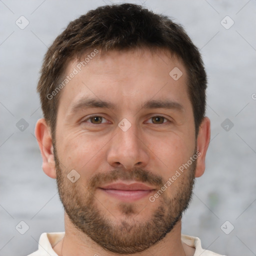
<path id="1" fill-rule="evenodd" d="M 111 2 L 117 1 L 0 0 L 0 255 L 26 255 L 37 249 L 42 232 L 63 231 L 55 180 L 41 170 L 34 137 L 42 116 L 38 72 L 47 47 L 69 21 Z M 208 74 L 211 142 L 182 233 L 200 237 L 203 248 L 221 254 L 256 255 L 256 0 L 146 0 L 143 5 L 185 27 Z M 24 29 L 15 24 L 21 15 L 29 21 Z M 229 29 L 220 23 L 226 15 L 234 21 Z M 21 118 L 28 123 L 23 131 L 16 126 Z M 221 126 L 226 118 L 233 123 L 227 131 L 226 123 Z M 23 235 L 15 229 L 21 220 L 29 226 Z M 226 220 L 222 230 L 234 226 L 229 234 L 221 230 Z"/>

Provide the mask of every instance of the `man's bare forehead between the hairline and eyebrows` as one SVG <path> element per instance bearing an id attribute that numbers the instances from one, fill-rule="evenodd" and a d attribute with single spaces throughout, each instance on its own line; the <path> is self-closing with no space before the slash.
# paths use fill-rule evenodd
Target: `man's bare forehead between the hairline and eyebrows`
<path id="1" fill-rule="evenodd" d="M 68 83 L 61 90 L 59 102 L 65 111 L 85 96 L 126 107 L 135 107 L 136 103 L 141 106 L 150 98 L 167 97 L 176 102 L 188 99 L 184 65 L 165 50 L 92 49 L 68 62 L 63 78 L 66 76 Z"/>

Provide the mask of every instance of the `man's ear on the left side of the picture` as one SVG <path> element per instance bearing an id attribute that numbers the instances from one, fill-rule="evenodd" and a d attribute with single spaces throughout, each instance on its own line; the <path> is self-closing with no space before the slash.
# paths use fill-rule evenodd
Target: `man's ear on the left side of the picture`
<path id="1" fill-rule="evenodd" d="M 49 177 L 56 178 L 50 128 L 44 118 L 36 122 L 34 133 L 42 155 L 42 169 Z"/>

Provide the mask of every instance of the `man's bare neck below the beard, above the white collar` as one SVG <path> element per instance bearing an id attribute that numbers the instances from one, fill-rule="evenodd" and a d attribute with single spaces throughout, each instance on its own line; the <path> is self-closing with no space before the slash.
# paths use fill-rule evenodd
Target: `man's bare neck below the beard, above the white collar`
<path id="1" fill-rule="evenodd" d="M 65 214 L 65 235 L 64 237 L 53 247 L 53 250 L 59 256 L 68 255 L 102 255 L 102 256 L 113 256 L 117 255 L 113 252 L 104 250 L 101 246 L 95 243 L 86 234 L 79 231 L 70 221 L 68 216 Z M 173 229 L 166 234 L 166 236 L 152 245 L 148 249 L 139 252 L 140 256 L 147 256 L 148 251 L 154 256 L 188 256 L 193 255 L 194 248 L 189 247 L 181 241 L 181 220 L 179 220 Z M 121 256 L 123 254 L 118 254 Z M 135 254 L 129 254 L 134 256 Z M 137 253 L 136 253 L 137 255 Z M 126 256 L 126 255 L 125 255 Z"/>

